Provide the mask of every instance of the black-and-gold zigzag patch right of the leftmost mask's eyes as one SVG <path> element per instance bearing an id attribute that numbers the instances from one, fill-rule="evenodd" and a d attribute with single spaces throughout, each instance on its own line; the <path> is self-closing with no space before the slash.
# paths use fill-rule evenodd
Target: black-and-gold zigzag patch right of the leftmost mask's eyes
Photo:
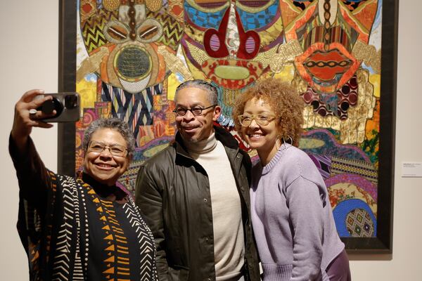
<path id="1" fill-rule="evenodd" d="M 162 37 L 159 42 L 170 46 L 174 51 L 177 50 L 181 36 L 183 35 L 183 26 L 174 18 L 165 13 L 147 13 L 148 18 L 155 18 L 162 25 Z"/>

